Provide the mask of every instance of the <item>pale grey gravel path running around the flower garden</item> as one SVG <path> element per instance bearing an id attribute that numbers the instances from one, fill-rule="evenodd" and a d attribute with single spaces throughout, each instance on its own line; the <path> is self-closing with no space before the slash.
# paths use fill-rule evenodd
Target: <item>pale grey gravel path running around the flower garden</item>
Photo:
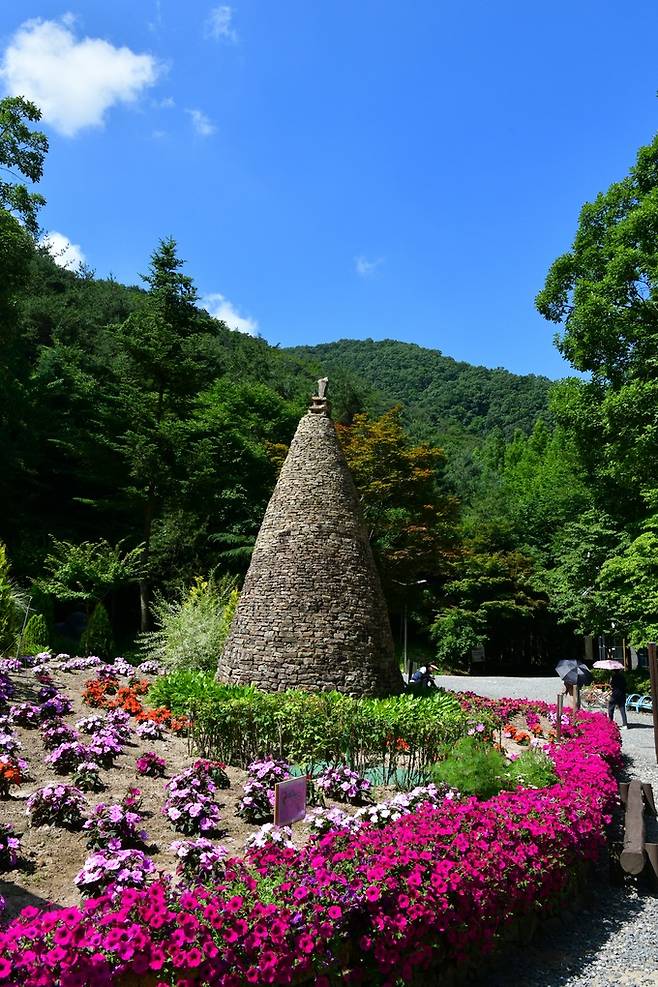
<path id="1" fill-rule="evenodd" d="M 555 702 L 557 678 L 439 676 L 446 689 L 477 692 L 490 698 L 544 699 Z M 619 714 L 617 714 L 619 715 Z M 658 765 L 651 717 L 629 713 L 622 730 L 626 774 L 653 785 L 658 795 Z M 647 839 L 658 840 L 647 824 Z M 506 951 L 469 987 L 658 987 L 658 897 L 646 883 L 628 878 L 612 887 L 608 874 L 594 876 L 584 905 L 538 934 L 530 946 Z"/>

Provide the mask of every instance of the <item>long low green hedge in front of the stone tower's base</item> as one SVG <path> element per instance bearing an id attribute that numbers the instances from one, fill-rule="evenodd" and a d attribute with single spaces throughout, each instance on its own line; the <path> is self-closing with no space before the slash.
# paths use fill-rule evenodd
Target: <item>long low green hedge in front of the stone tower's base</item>
<path id="1" fill-rule="evenodd" d="M 195 741 L 206 756 L 244 767 L 276 754 L 310 773 L 346 761 L 402 787 L 427 780 L 444 745 L 461 736 L 466 724 L 459 702 L 441 691 L 388 699 L 265 693 L 221 685 L 210 673 L 178 671 L 158 679 L 149 698 L 153 705 L 191 712 Z"/>

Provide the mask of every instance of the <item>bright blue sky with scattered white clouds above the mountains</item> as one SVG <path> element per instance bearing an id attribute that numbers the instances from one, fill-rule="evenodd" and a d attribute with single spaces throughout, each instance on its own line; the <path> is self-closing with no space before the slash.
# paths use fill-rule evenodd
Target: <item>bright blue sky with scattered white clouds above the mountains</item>
<path id="1" fill-rule="evenodd" d="M 563 376 L 534 311 L 579 209 L 658 129 L 638 0 L 34 0 L 0 86 L 41 103 L 44 226 L 138 279 L 173 235 L 281 345 L 391 337 Z"/>

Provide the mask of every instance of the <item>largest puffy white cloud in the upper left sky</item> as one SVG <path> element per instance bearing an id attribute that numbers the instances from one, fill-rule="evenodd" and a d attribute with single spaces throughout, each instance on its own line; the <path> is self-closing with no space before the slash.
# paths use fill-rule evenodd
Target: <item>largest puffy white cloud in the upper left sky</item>
<path id="1" fill-rule="evenodd" d="M 102 38 L 76 38 L 73 24 L 70 15 L 60 22 L 25 21 L 0 62 L 6 92 L 33 100 L 44 121 L 66 137 L 102 126 L 110 107 L 134 102 L 160 71 L 152 55 Z"/>

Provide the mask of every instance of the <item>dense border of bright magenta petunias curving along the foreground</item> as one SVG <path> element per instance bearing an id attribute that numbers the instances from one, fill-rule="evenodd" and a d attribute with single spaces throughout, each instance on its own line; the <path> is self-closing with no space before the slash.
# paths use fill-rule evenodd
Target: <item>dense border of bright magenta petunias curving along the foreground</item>
<path id="1" fill-rule="evenodd" d="M 501 723 L 553 711 L 488 708 Z M 423 804 L 302 850 L 267 842 L 225 861 L 211 889 L 156 881 L 80 909 L 24 909 L 0 934 L 0 984 L 390 984 L 472 956 L 555 898 L 604 842 L 617 728 L 580 713 L 564 732 L 550 788 Z"/>

